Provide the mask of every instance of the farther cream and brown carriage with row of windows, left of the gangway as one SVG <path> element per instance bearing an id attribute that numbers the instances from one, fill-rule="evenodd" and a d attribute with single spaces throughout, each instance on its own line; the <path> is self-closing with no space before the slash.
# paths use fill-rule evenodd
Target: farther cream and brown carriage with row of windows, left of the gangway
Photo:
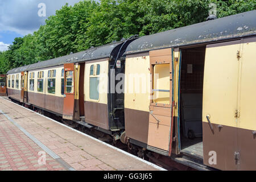
<path id="1" fill-rule="evenodd" d="M 15 68 L 7 73 L 8 96 L 119 139 L 124 94 L 110 88 L 117 84 L 115 75 L 124 73 L 122 55 L 133 40 Z"/>

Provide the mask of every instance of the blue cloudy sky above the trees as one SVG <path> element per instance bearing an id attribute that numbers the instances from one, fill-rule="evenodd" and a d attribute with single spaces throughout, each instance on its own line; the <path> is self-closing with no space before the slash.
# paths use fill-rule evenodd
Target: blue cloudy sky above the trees
<path id="1" fill-rule="evenodd" d="M 38 30 L 48 16 L 54 15 L 66 3 L 73 6 L 79 1 L 81 0 L 0 0 L 0 51 L 5 51 L 14 38 Z M 40 3 L 44 3 L 46 8 L 39 6 Z"/>

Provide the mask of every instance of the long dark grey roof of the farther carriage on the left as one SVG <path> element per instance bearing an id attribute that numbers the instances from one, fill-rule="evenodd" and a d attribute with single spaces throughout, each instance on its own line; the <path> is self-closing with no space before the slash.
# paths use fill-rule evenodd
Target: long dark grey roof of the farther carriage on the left
<path id="1" fill-rule="evenodd" d="M 24 67 L 14 68 L 14 69 L 11 69 L 9 72 L 7 72 L 7 74 L 19 73 L 23 71 L 31 71 L 35 69 L 41 69 L 41 68 L 56 67 L 59 65 L 64 65 L 66 63 L 76 63 L 80 61 L 90 61 L 90 60 L 107 58 L 112 55 L 114 48 L 121 45 L 123 42 L 124 41 L 115 42 L 105 46 L 90 48 L 86 51 L 72 53 L 67 56 L 57 57 L 55 59 L 26 65 Z"/>

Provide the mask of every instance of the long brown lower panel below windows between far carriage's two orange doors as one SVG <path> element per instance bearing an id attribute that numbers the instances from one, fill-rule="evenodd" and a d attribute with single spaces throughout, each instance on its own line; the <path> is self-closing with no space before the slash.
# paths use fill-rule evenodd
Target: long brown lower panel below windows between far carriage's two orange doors
<path id="1" fill-rule="evenodd" d="M 46 94 L 28 92 L 28 103 L 63 114 L 63 97 L 49 96 Z"/>

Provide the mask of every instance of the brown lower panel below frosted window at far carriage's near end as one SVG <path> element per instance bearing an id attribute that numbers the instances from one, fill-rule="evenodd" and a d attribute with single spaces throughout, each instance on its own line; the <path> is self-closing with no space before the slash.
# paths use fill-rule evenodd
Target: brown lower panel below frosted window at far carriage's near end
<path id="1" fill-rule="evenodd" d="M 109 130 L 108 105 L 85 101 L 85 122 Z"/>

